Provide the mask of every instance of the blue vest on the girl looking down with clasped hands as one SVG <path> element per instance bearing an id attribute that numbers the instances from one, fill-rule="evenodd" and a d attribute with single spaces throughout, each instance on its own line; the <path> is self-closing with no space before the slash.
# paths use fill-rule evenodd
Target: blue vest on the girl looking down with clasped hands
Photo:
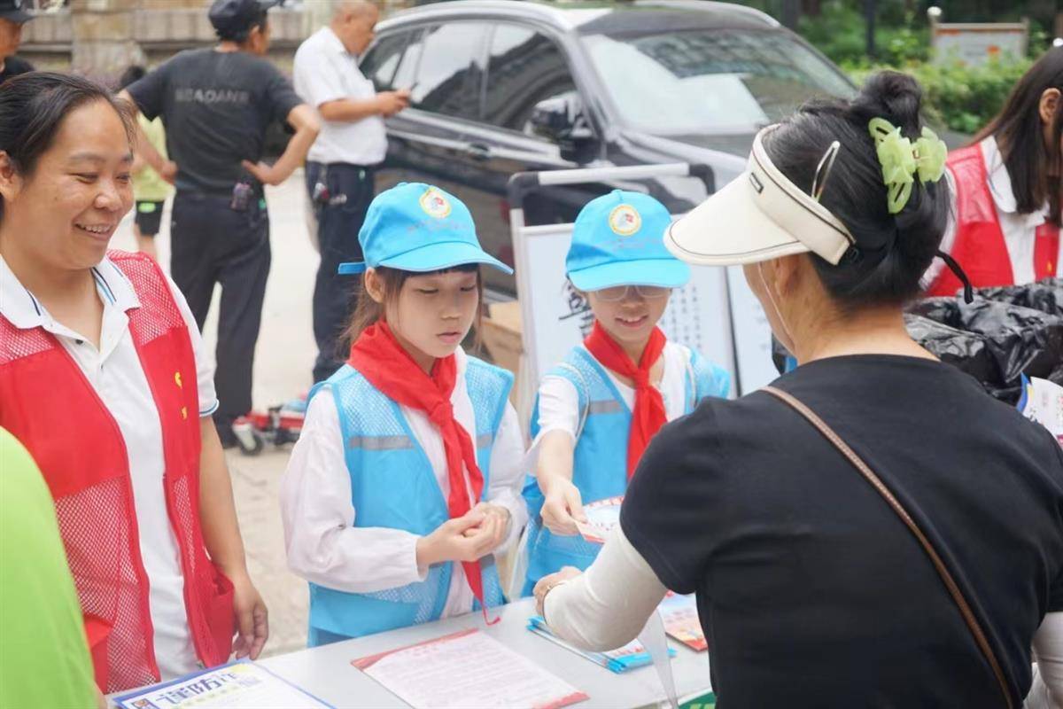
<path id="1" fill-rule="evenodd" d="M 466 386 L 476 417 L 476 461 L 487 493 L 491 450 L 506 410 L 512 375 L 474 357 L 467 358 Z M 375 389 L 360 372 L 344 365 L 328 377 L 351 475 L 353 526 L 431 534 L 450 519 L 446 500 L 427 455 L 417 442 L 399 404 Z M 310 391 L 313 398 L 321 385 Z M 480 560 L 484 601 L 505 603 L 493 557 Z M 440 618 L 451 587 L 454 562 L 429 568 L 423 581 L 375 593 L 348 593 L 310 584 L 308 645 L 357 638 Z M 479 608 L 479 604 L 475 604 Z"/>

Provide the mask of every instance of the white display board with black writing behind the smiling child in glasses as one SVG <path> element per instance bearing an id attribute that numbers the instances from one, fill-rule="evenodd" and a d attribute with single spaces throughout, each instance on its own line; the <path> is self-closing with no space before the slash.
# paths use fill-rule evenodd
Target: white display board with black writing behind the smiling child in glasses
<path id="1" fill-rule="evenodd" d="M 517 290 L 524 338 L 520 410 L 525 417 L 539 379 L 590 332 L 594 316 L 564 275 L 572 224 L 513 229 Z M 741 267 L 691 267 L 690 283 L 673 292 L 660 327 L 669 339 L 701 352 L 731 375 L 731 394 L 773 381 L 771 327 Z"/>

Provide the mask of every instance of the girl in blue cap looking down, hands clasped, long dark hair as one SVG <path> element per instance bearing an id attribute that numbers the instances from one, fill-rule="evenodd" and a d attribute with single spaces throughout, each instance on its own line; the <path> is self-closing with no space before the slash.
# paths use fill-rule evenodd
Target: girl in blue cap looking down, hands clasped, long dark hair
<path id="1" fill-rule="evenodd" d="M 469 209 L 400 184 L 369 206 L 350 358 L 310 391 L 281 490 L 309 645 L 504 603 L 493 555 L 526 520 L 512 376 L 460 343 L 480 311 Z"/>

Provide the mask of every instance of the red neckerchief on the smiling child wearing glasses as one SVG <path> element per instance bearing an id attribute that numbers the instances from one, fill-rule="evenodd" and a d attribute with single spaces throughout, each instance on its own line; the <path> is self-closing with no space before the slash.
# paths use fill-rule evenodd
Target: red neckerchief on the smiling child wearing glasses
<path id="1" fill-rule="evenodd" d="M 642 351 L 639 366 L 636 367 L 624 349 L 596 320 L 591 334 L 584 340 L 584 347 L 603 367 L 635 383 L 635 409 L 631 411 L 631 431 L 627 436 L 627 479 L 631 479 L 635 474 L 642 453 L 649 445 L 649 439 L 668 422 L 664 399 L 657 387 L 649 383 L 649 370 L 660 358 L 667 342 L 668 338 L 660 327 L 654 327 L 646 349 Z"/>

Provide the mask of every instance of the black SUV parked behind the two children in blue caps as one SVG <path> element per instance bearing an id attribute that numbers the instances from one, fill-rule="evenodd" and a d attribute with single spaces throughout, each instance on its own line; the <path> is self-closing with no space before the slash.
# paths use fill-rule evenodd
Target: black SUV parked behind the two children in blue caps
<path id="1" fill-rule="evenodd" d="M 472 210 L 484 247 L 513 263 L 506 185 L 514 172 L 699 163 L 723 185 L 757 130 L 849 80 L 763 13 L 703 0 L 457 0 L 377 26 L 361 62 L 378 90 L 409 88 L 388 119 L 377 188 L 428 182 Z M 571 222 L 618 184 L 542 188 L 528 224 Z M 630 186 L 630 185 L 627 185 Z M 705 197 L 691 179 L 643 189 L 673 213 Z M 512 293 L 512 277 L 486 269 Z"/>

